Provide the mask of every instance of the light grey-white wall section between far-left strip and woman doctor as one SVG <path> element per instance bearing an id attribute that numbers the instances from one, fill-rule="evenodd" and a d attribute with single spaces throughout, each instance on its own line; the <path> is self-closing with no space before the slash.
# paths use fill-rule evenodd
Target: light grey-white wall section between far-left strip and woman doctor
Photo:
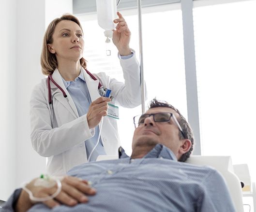
<path id="1" fill-rule="evenodd" d="M 45 1 L 17 0 L 16 179 L 15 187 L 45 172 L 45 158 L 30 141 L 30 94 L 40 82 L 40 52 L 45 31 Z"/>

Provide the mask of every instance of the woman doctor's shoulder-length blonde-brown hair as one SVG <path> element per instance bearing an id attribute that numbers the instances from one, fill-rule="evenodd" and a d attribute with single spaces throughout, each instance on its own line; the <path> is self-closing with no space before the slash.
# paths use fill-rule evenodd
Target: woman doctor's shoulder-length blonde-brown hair
<path id="1" fill-rule="evenodd" d="M 82 26 L 79 20 L 72 14 L 63 14 L 60 18 L 55 18 L 47 27 L 45 31 L 45 36 L 43 40 L 43 48 L 41 53 L 41 67 L 42 72 L 45 75 L 50 75 L 53 71 L 58 67 L 58 62 L 55 54 L 49 52 L 47 44 L 51 44 L 53 42 L 53 33 L 57 26 L 57 24 L 62 20 L 74 21 L 81 29 Z M 83 29 L 82 29 L 83 31 Z M 86 60 L 82 57 L 80 59 L 81 66 L 86 69 Z"/>

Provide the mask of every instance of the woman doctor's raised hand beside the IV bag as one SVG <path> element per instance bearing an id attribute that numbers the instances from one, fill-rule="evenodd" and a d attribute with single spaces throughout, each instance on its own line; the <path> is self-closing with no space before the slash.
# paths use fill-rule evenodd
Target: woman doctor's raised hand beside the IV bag
<path id="1" fill-rule="evenodd" d="M 127 56 L 132 54 L 129 47 L 131 31 L 123 16 L 119 12 L 117 12 L 117 14 L 119 18 L 114 20 L 114 23 L 117 23 L 117 26 L 116 30 L 113 31 L 113 43 L 116 45 L 121 56 Z"/>

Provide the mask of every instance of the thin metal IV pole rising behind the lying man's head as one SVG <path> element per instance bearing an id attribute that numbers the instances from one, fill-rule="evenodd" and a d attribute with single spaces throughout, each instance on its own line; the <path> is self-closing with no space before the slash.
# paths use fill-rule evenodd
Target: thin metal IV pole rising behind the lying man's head
<path id="1" fill-rule="evenodd" d="M 145 82 L 143 70 L 143 47 L 142 47 L 142 23 L 141 23 L 141 0 L 138 0 L 138 21 L 139 21 L 139 59 L 140 59 L 140 99 L 141 111 L 145 113 Z"/>

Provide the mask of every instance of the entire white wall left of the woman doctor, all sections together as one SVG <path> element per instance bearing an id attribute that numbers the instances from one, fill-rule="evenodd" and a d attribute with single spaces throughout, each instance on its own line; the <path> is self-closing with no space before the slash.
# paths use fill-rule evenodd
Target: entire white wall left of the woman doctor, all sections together
<path id="1" fill-rule="evenodd" d="M 45 26 L 63 13 L 72 13 L 72 0 L 0 1 L 0 199 L 45 172 L 45 158 L 31 146 L 29 102 L 44 77 Z"/>

